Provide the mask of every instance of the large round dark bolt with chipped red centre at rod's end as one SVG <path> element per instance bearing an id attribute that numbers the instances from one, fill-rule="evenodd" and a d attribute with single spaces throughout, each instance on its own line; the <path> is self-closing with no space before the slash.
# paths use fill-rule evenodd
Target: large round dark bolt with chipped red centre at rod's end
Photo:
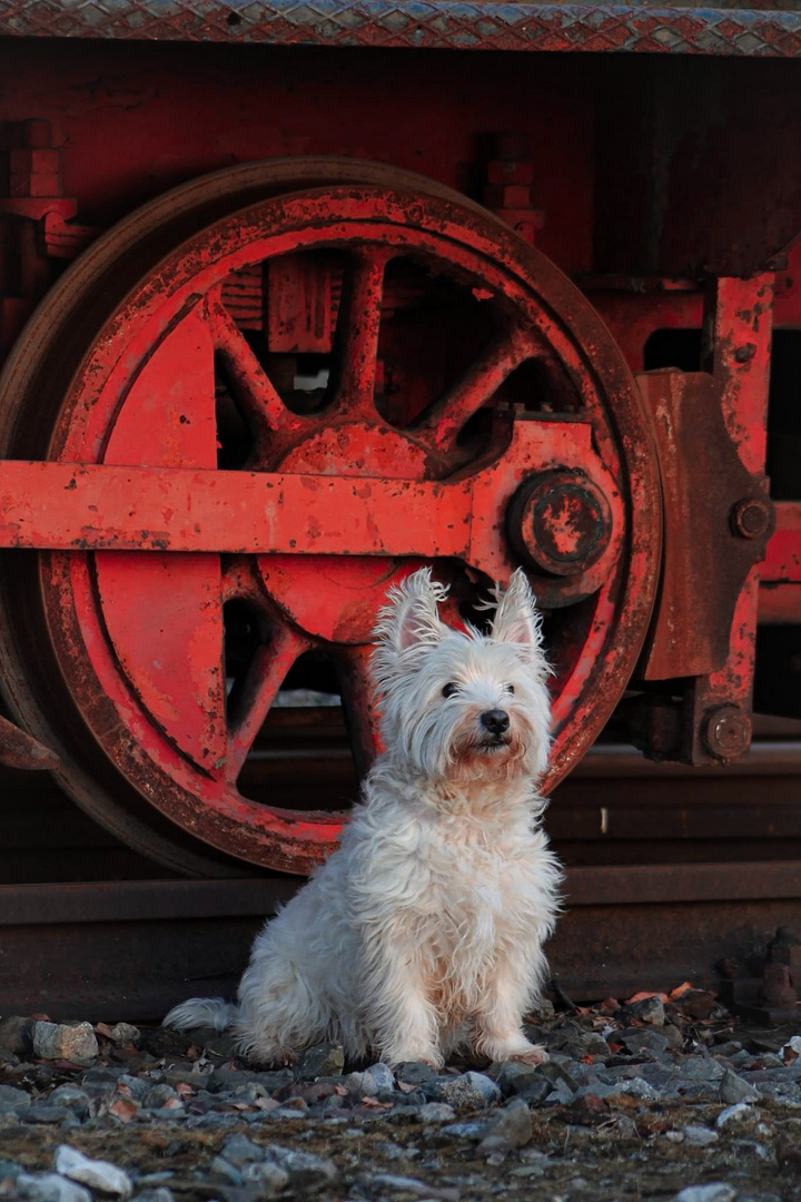
<path id="1" fill-rule="evenodd" d="M 512 499 L 509 540 L 520 558 L 549 576 L 579 576 L 609 545 L 611 511 L 591 480 L 567 468 L 538 472 Z"/>

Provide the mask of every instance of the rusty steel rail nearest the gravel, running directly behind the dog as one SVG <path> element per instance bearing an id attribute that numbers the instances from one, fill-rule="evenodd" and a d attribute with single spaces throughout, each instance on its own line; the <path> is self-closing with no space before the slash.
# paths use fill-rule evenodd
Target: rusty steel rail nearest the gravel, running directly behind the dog
<path id="1" fill-rule="evenodd" d="M 685 978 L 715 987 L 723 957 L 797 923 L 801 865 L 783 867 L 778 876 L 775 865 L 574 869 L 551 966 L 578 1000 Z M 187 988 L 233 995 L 256 930 L 288 888 L 271 880 L 0 887 L 0 1012 L 58 1018 L 90 1007 L 159 1019 Z"/>

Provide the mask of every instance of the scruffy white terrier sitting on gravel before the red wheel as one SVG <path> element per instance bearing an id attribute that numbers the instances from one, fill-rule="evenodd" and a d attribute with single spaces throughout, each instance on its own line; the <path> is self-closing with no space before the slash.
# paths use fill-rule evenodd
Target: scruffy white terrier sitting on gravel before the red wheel
<path id="1" fill-rule="evenodd" d="M 373 653 L 385 746 L 341 846 L 253 945 L 239 1004 L 165 1025 L 233 1027 L 262 1063 L 340 1040 L 348 1058 L 442 1066 L 458 1046 L 539 1064 L 522 1017 L 561 880 L 539 826 L 549 668 L 522 571 L 489 636 L 452 630 L 428 569 L 391 590 Z"/>

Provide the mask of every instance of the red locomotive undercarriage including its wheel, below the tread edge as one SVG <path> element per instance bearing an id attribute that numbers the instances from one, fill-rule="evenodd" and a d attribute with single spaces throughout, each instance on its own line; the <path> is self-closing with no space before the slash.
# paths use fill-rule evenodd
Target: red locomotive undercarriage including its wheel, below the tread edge
<path id="1" fill-rule="evenodd" d="M 274 703 L 363 770 L 426 559 L 530 570 L 549 789 L 801 716 L 795 63 L 65 46 L 0 41 L 0 760 L 303 873 L 353 780 L 276 787 L 345 742 Z"/>

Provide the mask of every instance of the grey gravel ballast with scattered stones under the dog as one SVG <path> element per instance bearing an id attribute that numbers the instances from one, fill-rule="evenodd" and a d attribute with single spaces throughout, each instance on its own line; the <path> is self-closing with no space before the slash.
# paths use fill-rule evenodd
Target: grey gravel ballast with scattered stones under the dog
<path id="1" fill-rule="evenodd" d="M 686 1001 L 682 1000 L 686 998 Z M 532 1069 L 253 1066 L 214 1031 L 0 1016 L 0 1198 L 801 1202 L 801 1040 L 676 990 L 554 1013 Z"/>

